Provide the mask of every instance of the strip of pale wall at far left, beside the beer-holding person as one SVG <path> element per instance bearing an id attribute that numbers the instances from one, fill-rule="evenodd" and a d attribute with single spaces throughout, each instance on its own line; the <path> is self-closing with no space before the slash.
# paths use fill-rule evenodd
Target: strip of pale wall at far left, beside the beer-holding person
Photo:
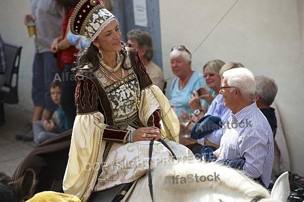
<path id="1" fill-rule="evenodd" d="M 3 40 L 22 46 L 19 69 L 18 108 L 32 110 L 31 77 L 34 57 L 34 42 L 28 37 L 27 27 L 23 24 L 25 14 L 31 13 L 29 0 L 2 1 L 0 6 L 0 33 Z M 22 126 L 20 126 L 22 127 Z"/>

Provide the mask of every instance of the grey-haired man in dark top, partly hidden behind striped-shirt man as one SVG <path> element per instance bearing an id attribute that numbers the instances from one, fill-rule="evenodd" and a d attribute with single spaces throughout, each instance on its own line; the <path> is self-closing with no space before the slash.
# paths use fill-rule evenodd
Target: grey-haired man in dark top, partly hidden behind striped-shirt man
<path id="1" fill-rule="evenodd" d="M 256 76 L 255 80 L 255 94 L 254 100 L 256 106 L 263 115 L 267 118 L 270 127 L 275 135 L 277 129 L 277 118 L 275 109 L 270 107 L 274 102 L 278 92 L 278 86 L 274 79 L 266 76 Z"/>

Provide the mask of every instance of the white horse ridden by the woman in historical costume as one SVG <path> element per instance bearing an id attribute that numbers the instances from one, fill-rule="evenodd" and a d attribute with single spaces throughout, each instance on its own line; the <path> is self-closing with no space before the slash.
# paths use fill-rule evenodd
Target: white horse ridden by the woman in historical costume
<path id="1" fill-rule="evenodd" d="M 155 202 L 168 201 L 280 201 L 289 196 L 288 172 L 270 193 L 243 172 L 215 163 L 183 163 L 162 166 L 152 173 Z M 129 193 L 131 192 L 131 193 Z M 147 176 L 137 180 L 123 201 L 152 201 Z"/>

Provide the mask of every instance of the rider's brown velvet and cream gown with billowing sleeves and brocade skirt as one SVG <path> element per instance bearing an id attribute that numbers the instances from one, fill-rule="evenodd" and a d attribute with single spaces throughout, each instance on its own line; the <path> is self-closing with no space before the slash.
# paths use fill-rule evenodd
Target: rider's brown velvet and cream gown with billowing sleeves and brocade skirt
<path id="1" fill-rule="evenodd" d="M 132 68 L 122 80 L 109 83 L 100 69 L 93 72 L 89 67 L 76 75 L 78 112 L 63 190 L 82 201 L 87 201 L 92 191 L 133 182 L 148 171 L 150 141 L 128 143 L 130 128 L 159 127 L 161 123 L 161 133 L 168 138 L 165 141 L 178 160 L 161 142 L 155 141 L 152 169 L 195 159 L 187 147 L 176 143 L 179 122 L 169 100 L 152 84 L 135 48 L 130 52 L 126 49 L 126 64 Z"/>

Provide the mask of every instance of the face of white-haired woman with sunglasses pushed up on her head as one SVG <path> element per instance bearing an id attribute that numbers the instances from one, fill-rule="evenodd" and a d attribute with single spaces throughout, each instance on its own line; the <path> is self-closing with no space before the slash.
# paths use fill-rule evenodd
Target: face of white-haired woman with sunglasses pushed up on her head
<path id="1" fill-rule="evenodd" d="M 170 66 L 172 73 L 175 76 L 180 77 L 187 75 L 187 72 L 191 69 L 191 62 L 186 62 L 181 56 L 178 56 L 170 60 Z"/>

